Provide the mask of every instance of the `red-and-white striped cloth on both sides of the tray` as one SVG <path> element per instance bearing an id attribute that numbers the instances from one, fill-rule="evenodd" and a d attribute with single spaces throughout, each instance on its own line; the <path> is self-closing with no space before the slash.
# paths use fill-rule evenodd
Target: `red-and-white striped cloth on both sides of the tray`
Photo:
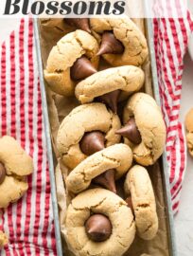
<path id="1" fill-rule="evenodd" d="M 162 110 L 167 123 L 167 161 L 173 210 L 178 210 L 185 169 L 185 142 L 179 109 L 183 56 L 193 22 L 187 19 L 154 20 L 154 42 Z M 32 21 L 21 20 L 19 29 L 0 48 L 1 135 L 21 141 L 34 159 L 29 190 L 4 210 L 0 229 L 9 246 L 0 255 L 57 255 L 44 137 L 44 123 Z"/>

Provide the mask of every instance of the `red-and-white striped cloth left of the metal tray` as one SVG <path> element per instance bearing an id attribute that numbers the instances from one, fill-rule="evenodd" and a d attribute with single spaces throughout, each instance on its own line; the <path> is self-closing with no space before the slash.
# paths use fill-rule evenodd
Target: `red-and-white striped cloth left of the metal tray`
<path id="1" fill-rule="evenodd" d="M 56 255 L 43 110 L 32 20 L 21 20 L 1 46 L 0 132 L 21 142 L 33 157 L 34 174 L 18 203 L 2 210 L 0 229 L 9 236 L 1 255 Z"/>

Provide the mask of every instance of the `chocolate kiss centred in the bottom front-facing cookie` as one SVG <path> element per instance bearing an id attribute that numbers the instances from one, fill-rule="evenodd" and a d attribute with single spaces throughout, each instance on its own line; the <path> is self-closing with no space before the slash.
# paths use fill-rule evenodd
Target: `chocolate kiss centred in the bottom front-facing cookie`
<path id="1" fill-rule="evenodd" d="M 106 241 L 112 234 L 110 220 L 102 214 L 92 215 L 85 223 L 88 237 L 94 242 Z"/>

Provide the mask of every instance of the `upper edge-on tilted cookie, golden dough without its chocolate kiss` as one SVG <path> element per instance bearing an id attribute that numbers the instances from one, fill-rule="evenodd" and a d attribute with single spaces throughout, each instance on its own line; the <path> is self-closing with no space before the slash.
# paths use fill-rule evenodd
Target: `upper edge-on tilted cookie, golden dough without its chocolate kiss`
<path id="1" fill-rule="evenodd" d="M 75 94 L 81 103 L 94 101 L 96 97 L 121 90 L 120 99 L 137 92 L 144 84 L 145 75 L 141 68 L 133 65 L 108 68 L 79 82 Z"/>

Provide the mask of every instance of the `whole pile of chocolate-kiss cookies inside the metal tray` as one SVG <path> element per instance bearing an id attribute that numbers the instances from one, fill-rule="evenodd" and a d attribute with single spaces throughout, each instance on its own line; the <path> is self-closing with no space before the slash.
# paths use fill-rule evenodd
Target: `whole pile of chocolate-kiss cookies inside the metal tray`
<path id="1" fill-rule="evenodd" d="M 80 103 L 57 137 L 73 197 L 65 239 L 75 255 L 119 256 L 135 235 L 151 240 L 158 230 L 146 167 L 163 154 L 166 126 L 157 103 L 142 92 L 147 41 L 127 17 L 64 23 L 75 30 L 52 48 L 44 78 L 52 91 Z"/>

